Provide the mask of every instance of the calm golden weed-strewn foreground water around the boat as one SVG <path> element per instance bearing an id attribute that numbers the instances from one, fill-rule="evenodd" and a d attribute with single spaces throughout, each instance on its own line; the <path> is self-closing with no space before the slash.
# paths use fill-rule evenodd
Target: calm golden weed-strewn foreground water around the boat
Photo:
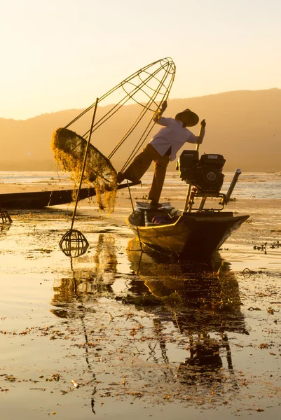
<path id="1" fill-rule="evenodd" d="M 133 200 L 147 191 L 132 188 Z M 164 197 L 184 207 L 173 188 Z M 125 225 L 128 191 L 111 215 L 79 203 L 74 227 L 90 246 L 78 258 L 58 245 L 73 204 L 9 211 L 13 224 L 0 232 L 4 418 L 277 416 L 281 249 L 271 246 L 281 242 L 281 200 L 237 197 L 227 210 L 250 218 L 210 265 L 141 255 Z M 254 248 L 265 243 L 266 253 Z"/>

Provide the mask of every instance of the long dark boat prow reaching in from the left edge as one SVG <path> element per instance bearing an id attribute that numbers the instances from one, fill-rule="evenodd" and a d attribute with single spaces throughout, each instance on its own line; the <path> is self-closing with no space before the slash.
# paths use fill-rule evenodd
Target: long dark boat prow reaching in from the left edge
<path id="1" fill-rule="evenodd" d="M 129 183 L 134 186 L 136 183 Z M 118 190 L 127 184 L 118 186 Z M 73 201 L 77 190 L 36 191 L 30 193 L 0 194 L 0 207 L 3 209 L 43 209 L 43 207 L 67 204 Z M 81 188 L 78 200 L 96 195 L 95 188 Z"/>

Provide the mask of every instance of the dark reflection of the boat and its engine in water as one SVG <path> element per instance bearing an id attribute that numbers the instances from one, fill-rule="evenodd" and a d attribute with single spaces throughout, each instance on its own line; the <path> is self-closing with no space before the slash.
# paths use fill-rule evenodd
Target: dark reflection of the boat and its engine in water
<path id="1" fill-rule="evenodd" d="M 174 307 L 170 305 L 170 316 L 166 312 L 162 319 L 159 316 L 154 320 L 163 361 L 169 363 L 165 341 L 160 337 L 163 337 L 163 322 L 170 319 L 181 335 L 189 337 L 186 347 L 189 357 L 177 368 L 179 381 L 189 386 L 198 386 L 198 383 L 211 388 L 214 383 L 218 386 L 226 378 L 221 369 L 222 352 L 226 354 L 233 388 L 238 389 L 228 332 L 246 335 L 249 332 L 240 311 L 238 281 L 229 263 L 214 255 L 209 263 L 179 265 L 159 253 L 149 255 L 135 251 L 137 247 L 137 239 L 132 239 L 128 244 L 128 258 L 142 281 L 132 281 L 130 290 L 135 295 L 149 292 L 166 302 L 169 297 L 181 302 Z M 211 337 L 211 333 L 216 337 Z"/>

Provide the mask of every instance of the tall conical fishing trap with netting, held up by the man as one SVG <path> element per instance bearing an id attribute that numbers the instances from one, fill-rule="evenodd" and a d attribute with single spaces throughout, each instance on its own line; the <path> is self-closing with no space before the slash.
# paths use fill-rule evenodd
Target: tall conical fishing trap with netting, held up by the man
<path id="1" fill-rule="evenodd" d="M 118 189 L 114 160 L 116 165 L 122 162 L 120 170 L 124 171 L 144 146 L 155 124 L 153 115 L 169 96 L 175 71 L 174 62 L 169 57 L 153 62 L 125 78 L 97 99 L 97 117 L 92 118 L 90 130 L 82 135 L 76 133 L 83 127 L 81 121 L 88 121 L 87 116 L 92 114 L 93 109 L 94 113 L 97 111 L 97 101 L 65 127 L 55 130 L 52 149 L 60 169 L 70 172 L 74 184 L 80 179 L 81 184 L 83 182 L 95 187 L 99 209 L 106 209 L 108 213 L 114 211 Z M 134 112 L 130 113 L 129 118 L 122 111 L 124 105 L 131 104 L 134 105 Z M 89 126 L 88 123 L 89 121 L 86 123 Z M 114 144 L 114 148 L 111 151 L 108 137 L 101 134 L 104 123 L 107 123 L 107 126 L 112 125 L 110 137 L 114 137 L 114 141 L 110 139 L 110 144 Z M 75 131 L 69 130 L 70 126 L 74 127 Z M 124 129 L 123 134 L 120 134 L 121 128 Z M 95 146 L 90 144 L 94 132 Z M 72 228 L 73 223 L 71 230 Z M 69 243 L 69 237 L 67 241 Z"/>

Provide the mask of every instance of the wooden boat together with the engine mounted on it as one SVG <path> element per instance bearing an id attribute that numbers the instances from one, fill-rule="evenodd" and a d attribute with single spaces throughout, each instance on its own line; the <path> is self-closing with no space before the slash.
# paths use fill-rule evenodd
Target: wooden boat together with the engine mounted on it
<path id="1" fill-rule="evenodd" d="M 241 170 L 236 169 L 227 193 L 221 193 L 224 162 L 222 155 L 214 153 L 204 153 L 199 160 L 198 145 L 196 151 L 183 151 L 176 169 L 181 181 L 188 184 L 184 211 L 174 209 L 170 203 L 153 208 L 150 203 L 137 202 L 137 208 L 133 209 L 127 224 L 139 237 L 139 241 L 179 258 L 210 258 L 249 218 L 248 215 L 233 216 L 231 211 L 222 211 L 241 174 Z M 197 197 L 201 201 L 199 207 L 194 209 Z M 219 198 L 220 207 L 206 209 L 207 197 Z"/>

